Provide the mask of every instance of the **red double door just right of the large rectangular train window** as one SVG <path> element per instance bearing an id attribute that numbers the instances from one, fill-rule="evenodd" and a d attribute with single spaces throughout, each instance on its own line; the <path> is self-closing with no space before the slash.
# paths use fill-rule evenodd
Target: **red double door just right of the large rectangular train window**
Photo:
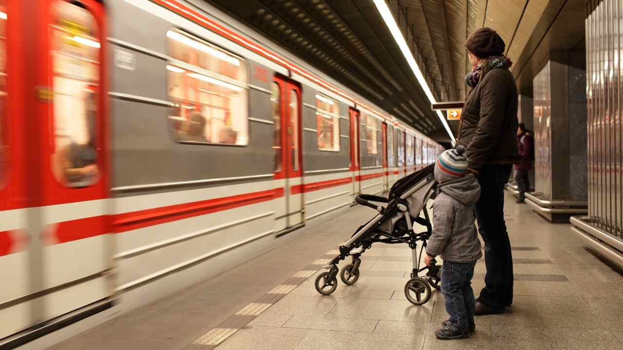
<path id="1" fill-rule="evenodd" d="M 301 88 L 292 80 L 275 75 L 272 87 L 275 121 L 275 179 L 278 196 L 275 230 L 303 224 L 303 156 L 301 142 Z"/>

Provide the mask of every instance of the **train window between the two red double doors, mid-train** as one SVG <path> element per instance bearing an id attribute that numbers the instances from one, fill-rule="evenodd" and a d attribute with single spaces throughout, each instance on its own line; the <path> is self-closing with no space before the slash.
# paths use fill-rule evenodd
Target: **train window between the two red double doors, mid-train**
<path id="1" fill-rule="evenodd" d="M 340 107 L 335 100 L 316 95 L 318 149 L 340 151 Z"/>

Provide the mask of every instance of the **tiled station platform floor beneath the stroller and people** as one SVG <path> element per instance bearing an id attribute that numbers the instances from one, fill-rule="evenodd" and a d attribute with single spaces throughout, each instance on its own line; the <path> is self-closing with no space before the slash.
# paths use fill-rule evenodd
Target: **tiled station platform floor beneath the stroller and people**
<path id="1" fill-rule="evenodd" d="M 566 224 L 549 224 L 506 198 L 515 299 L 479 316 L 470 339 L 439 341 L 443 296 L 406 301 L 406 246 L 368 250 L 354 286 L 331 296 L 313 287 L 340 242 L 374 215 L 354 208 L 217 277 L 113 319 L 50 349 L 623 349 L 623 277 L 587 250 Z M 483 261 L 473 278 L 483 286 Z"/>

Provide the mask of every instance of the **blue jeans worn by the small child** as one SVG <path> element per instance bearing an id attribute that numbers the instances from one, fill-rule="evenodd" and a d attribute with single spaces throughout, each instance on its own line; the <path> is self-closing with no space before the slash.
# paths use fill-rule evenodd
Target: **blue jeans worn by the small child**
<path id="1" fill-rule="evenodd" d="M 444 260 L 441 272 L 441 292 L 444 293 L 445 311 L 452 326 L 467 328 L 473 317 L 476 301 L 473 297 L 472 277 L 476 262 L 455 263 Z"/>

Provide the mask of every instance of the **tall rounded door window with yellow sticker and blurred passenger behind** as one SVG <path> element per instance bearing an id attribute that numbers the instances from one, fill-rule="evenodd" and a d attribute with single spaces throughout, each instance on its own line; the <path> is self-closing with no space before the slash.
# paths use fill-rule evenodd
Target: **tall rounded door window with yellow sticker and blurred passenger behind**
<path id="1" fill-rule="evenodd" d="M 87 9 L 65 1 L 55 1 L 52 14 L 52 168 L 66 186 L 89 186 L 100 177 L 96 149 L 100 80 L 97 22 Z"/>

